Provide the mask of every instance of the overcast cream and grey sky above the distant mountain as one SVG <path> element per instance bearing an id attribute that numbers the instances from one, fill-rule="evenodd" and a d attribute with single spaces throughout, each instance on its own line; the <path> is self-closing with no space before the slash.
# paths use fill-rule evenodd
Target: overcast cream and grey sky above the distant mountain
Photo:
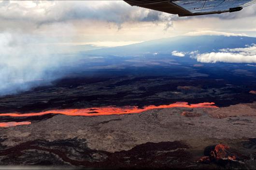
<path id="1" fill-rule="evenodd" d="M 26 36 L 31 41 L 40 39 L 36 43 L 61 47 L 112 47 L 211 31 L 256 37 L 255 17 L 256 4 L 237 13 L 178 17 L 132 7 L 122 0 L 0 0 L 0 33 Z"/>

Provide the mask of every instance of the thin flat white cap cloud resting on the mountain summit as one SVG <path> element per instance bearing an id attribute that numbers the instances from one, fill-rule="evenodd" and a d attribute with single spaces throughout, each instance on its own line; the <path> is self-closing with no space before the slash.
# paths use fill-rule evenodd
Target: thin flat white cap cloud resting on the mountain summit
<path id="1" fill-rule="evenodd" d="M 248 36 L 246 34 L 235 34 L 229 32 L 219 32 L 219 31 L 210 31 L 210 30 L 199 30 L 194 32 L 188 32 L 185 34 L 186 36 L 203 36 L 203 35 L 210 35 L 210 36 Z"/>

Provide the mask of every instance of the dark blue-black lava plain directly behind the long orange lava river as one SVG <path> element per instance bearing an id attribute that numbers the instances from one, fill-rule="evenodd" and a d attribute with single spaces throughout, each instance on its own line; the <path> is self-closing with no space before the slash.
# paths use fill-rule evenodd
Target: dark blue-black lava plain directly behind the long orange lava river
<path id="1" fill-rule="evenodd" d="M 232 84 L 231 84 L 232 83 Z M 66 78 L 52 86 L 0 97 L 0 112 L 35 112 L 93 106 L 169 105 L 214 102 L 219 107 L 252 103 L 256 82 L 229 82 L 215 78 L 118 77 Z"/>

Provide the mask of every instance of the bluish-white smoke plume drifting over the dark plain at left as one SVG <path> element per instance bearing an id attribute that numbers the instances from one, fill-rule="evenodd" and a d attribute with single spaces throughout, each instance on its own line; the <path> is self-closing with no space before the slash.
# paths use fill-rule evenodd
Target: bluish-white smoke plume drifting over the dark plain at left
<path id="1" fill-rule="evenodd" d="M 41 40 L 13 31 L 0 33 L 0 95 L 26 91 L 61 76 L 53 71 L 63 64 L 63 56 Z"/>

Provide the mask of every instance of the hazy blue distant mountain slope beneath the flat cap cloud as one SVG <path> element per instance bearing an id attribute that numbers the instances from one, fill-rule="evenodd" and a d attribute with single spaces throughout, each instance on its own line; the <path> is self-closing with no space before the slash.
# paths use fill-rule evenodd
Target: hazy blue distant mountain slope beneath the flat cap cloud
<path id="1" fill-rule="evenodd" d="M 103 55 L 138 55 L 170 54 L 179 52 L 217 52 L 224 48 L 243 48 L 245 45 L 256 43 L 255 37 L 241 36 L 179 36 L 166 39 L 156 39 L 126 46 L 87 51 L 87 54 Z"/>

